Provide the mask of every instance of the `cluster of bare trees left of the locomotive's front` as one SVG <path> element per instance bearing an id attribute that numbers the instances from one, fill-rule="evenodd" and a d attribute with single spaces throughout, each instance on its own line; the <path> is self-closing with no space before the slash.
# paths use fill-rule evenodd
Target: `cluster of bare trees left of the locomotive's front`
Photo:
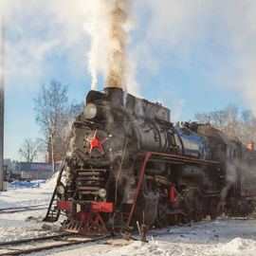
<path id="1" fill-rule="evenodd" d="M 39 155 L 47 158 L 47 152 L 51 152 L 51 161 L 54 163 L 57 149 L 64 153 L 67 150 L 72 122 L 82 112 L 83 104 L 69 103 L 67 85 L 62 82 L 52 80 L 48 86 L 41 84 L 34 99 L 34 112 L 43 138 L 25 138 L 19 154 L 27 162 L 32 162 Z"/>

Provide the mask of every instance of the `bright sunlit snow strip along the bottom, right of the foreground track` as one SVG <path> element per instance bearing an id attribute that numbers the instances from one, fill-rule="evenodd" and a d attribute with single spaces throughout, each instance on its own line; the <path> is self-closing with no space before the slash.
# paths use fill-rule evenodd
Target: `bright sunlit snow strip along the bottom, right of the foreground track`
<path id="1" fill-rule="evenodd" d="M 167 235 L 168 237 L 169 235 Z M 171 237 L 170 237 L 171 238 Z M 169 238 L 169 239 L 170 239 Z M 169 240 L 168 239 L 168 240 Z M 113 242 L 113 243 L 112 243 Z M 229 244 L 220 247 L 219 245 L 201 244 L 200 239 L 197 239 L 196 244 L 192 243 L 174 243 L 169 241 L 149 241 L 149 243 L 130 242 L 128 245 L 123 245 L 124 242 L 115 243 L 115 240 L 104 243 L 102 245 L 88 245 L 50 253 L 50 256 L 255 256 L 255 244 L 253 240 L 238 238 L 232 240 Z M 234 249 L 234 247 L 236 249 Z M 242 247 L 241 247 L 242 246 Z M 232 249 L 231 249 L 232 248 Z"/>

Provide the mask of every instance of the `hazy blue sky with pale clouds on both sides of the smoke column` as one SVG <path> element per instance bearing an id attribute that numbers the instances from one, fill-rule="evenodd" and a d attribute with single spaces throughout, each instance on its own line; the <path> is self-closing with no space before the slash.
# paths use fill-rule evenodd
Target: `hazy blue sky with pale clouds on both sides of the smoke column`
<path id="1" fill-rule="evenodd" d="M 69 100 L 76 102 L 90 90 L 84 27 L 96 1 L 1 1 L 7 29 L 5 157 L 19 159 L 24 138 L 41 137 L 33 112 L 41 83 L 54 78 L 67 84 Z M 170 107 L 173 121 L 229 103 L 256 114 L 256 1 L 131 2 L 128 56 L 140 97 Z"/>

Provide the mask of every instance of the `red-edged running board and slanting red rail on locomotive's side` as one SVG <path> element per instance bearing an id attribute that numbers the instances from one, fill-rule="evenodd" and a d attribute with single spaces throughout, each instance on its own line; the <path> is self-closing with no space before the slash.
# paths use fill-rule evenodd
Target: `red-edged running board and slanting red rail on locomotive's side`
<path id="1" fill-rule="evenodd" d="M 145 153 L 141 153 L 141 154 L 137 154 L 137 156 L 144 156 L 144 161 L 143 161 L 143 165 L 139 174 L 139 179 L 138 179 L 138 183 L 137 183 L 137 191 L 133 200 L 133 205 L 132 205 L 132 209 L 130 211 L 129 217 L 128 217 L 128 221 L 126 223 L 126 228 L 129 228 L 129 225 L 131 223 L 131 219 L 133 217 L 133 213 L 136 207 L 136 202 L 137 202 L 137 195 L 140 189 L 140 185 L 142 182 L 142 178 L 144 175 L 144 171 L 146 168 L 146 164 L 149 161 L 150 157 L 152 156 L 156 156 L 156 158 L 153 158 L 152 160 L 162 160 L 162 161 L 169 161 L 169 162 L 173 162 L 175 164 L 183 164 L 183 163 L 193 163 L 193 164 L 216 164 L 218 165 L 219 162 L 217 161 L 210 161 L 210 160 L 203 160 L 203 159 L 197 159 L 197 158 L 192 158 L 192 157 L 187 157 L 187 156 L 183 156 L 183 155 L 173 155 L 173 154 L 166 154 L 166 153 L 156 153 L 156 152 L 145 152 Z M 158 157 L 157 157 L 158 156 Z"/>

